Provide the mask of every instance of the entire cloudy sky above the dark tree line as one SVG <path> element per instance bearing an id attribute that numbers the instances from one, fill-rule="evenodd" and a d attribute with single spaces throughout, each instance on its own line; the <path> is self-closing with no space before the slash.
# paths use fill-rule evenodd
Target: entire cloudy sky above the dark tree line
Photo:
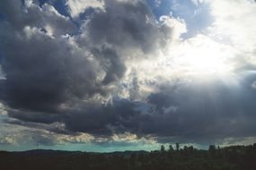
<path id="1" fill-rule="evenodd" d="M 256 142 L 254 0 L 1 0 L 0 150 Z"/>

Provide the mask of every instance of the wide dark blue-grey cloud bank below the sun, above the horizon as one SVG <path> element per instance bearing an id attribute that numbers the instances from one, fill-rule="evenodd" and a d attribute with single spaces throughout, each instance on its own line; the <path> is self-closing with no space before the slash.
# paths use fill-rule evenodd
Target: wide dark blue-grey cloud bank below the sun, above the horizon
<path id="1" fill-rule="evenodd" d="M 131 132 L 137 137 L 150 135 L 159 142 L 222 142 L 225 138 L 255 136 L 256 91 L 250 87 L 252 77 L 244 80 L 242 89 L 229 89 L 222 81 L 211 85 L 186 84 L 162 89 L 148 97 L 148 103 L 115 100 L 109 105 L 83 104 L 63 115 L 52 115 L 52 122 L 66 124 L 67 132 L 89 132 L 98 137 Z M 146 113 L 137 109 L 146 108 Z M 174 108 L 175 109 L 172 109 Z M 19 116 L 13 115 L 13 117 Z M 35 115 L 22 114 L 23 121 Z M 47 122 L 42 115 L 37 121 Z M 57 131 L 55 131 L 57 132 Z M 59 132 L 63 133 L 63 132 Z M 65 133 L 65 132 L 64 132 Z"/>

